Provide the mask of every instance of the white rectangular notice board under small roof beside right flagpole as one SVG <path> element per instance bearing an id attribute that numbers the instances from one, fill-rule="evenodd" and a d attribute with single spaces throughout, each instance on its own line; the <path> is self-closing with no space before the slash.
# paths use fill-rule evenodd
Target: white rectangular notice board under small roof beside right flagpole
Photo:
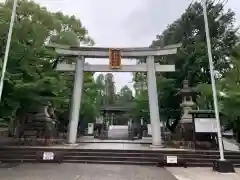
<path id="1" fill-rule="evenodd" d="M 197 133 L 216 133 L 217 121 L 215 118 L 195 118 L 195 132 Z"/>

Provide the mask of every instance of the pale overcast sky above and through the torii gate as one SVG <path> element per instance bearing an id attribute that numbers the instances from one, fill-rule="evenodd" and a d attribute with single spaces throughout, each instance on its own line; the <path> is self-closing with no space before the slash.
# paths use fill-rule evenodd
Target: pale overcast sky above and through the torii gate
<path id="1" fill-rule="evenodd" d="M 3 0 L 0 0 L 3 1 Z M 149 46 L 157 34 L 180 17 L 191 0 L 35 0 L 50 11 L 75 15 L 88 29 L 95 46 Z M 226 8 L 236 13 L 240 24 L 239 0 L 228 0 Z M 107 60 L 89 60 L 91 64 Z M 124 64 L 135 64 L 125 60 Z M 132 87 L 132 73 L 114 73 L 116 89 Z"/>

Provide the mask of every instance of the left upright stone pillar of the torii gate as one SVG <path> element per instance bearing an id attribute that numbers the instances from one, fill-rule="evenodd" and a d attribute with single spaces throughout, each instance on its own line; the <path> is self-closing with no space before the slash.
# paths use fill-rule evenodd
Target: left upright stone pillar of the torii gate
<path id="1" fill-rule="evenodd" d="M 77 129 L 79 121 L 79 112 L 81 108 L 81 97 L 84 81 L 84 57 L 77 59 L 74 75 L 74 86 L 71 101 L 70 122 L 68 143 L 75 144 L 77 139 Z"/>

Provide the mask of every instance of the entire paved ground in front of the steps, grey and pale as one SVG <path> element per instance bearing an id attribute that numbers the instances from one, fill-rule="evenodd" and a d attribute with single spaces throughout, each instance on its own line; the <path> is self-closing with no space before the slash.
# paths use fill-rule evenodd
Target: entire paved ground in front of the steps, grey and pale
<path id="1" fill-rule="evenodd" d="M 221 174 L 212 168 L 151 167 L 104 164 L 7 164 L 0 180 L 239 180 L 236 173 Z"/>

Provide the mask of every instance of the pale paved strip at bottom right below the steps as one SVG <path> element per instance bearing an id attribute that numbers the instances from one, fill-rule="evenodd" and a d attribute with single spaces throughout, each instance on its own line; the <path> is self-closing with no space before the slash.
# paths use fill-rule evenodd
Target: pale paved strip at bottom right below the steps
<path id="1" fill-rule="evenodd" d="M 212 168 L 174 168 L 168 167 L 178 180 L 240 180 L 240 169 L 236 173 L 221 174 L 212 171 Z"/>

